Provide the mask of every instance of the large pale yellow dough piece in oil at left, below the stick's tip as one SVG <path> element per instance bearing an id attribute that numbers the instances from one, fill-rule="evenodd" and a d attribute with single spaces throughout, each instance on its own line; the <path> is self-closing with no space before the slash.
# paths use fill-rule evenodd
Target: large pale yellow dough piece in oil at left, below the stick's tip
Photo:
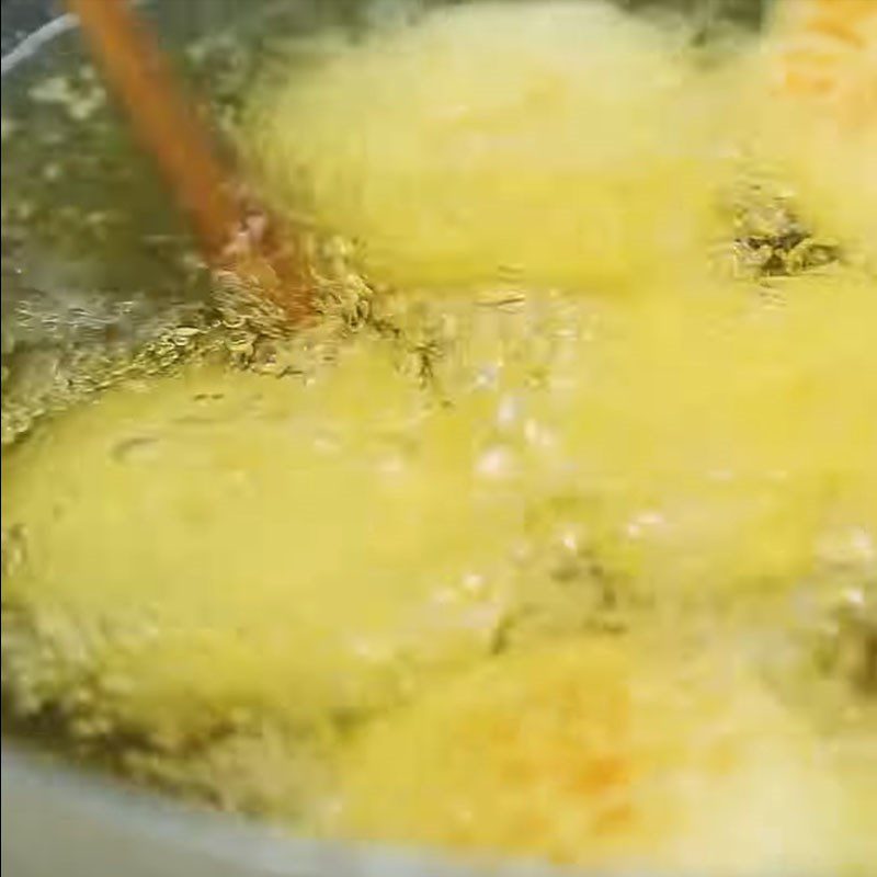
<path id="1" fill-rule="evenodd" d="M 314 386 L 193 367 L 46 424 L 3 457 L 4 608 L 35 624 L 8 684 L 172 750 L 481 653 L 520 511 L 472 489 L 470 431 L 355 352 Z"/>

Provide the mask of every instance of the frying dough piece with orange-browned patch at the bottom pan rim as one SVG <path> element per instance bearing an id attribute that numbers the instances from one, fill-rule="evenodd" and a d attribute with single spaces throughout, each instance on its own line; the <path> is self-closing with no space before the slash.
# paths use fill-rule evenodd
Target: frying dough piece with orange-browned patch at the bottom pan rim
<path id="1" fill-rule="evenodd" d="M 330 830 L 634 872 L 830 870 L 813 741 L 716 658 L 585 638 L 486 663 L 353 743 Z"/>

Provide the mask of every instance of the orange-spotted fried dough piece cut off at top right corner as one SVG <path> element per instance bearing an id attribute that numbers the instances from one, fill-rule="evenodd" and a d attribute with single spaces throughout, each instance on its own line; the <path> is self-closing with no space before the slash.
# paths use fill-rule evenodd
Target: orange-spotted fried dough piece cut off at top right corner
<path id="1" fill-rule="evenodd" d="M 877 3 L 779 0 L 751 88 L 754 153 L 811 230 L 877 264 Z"/>

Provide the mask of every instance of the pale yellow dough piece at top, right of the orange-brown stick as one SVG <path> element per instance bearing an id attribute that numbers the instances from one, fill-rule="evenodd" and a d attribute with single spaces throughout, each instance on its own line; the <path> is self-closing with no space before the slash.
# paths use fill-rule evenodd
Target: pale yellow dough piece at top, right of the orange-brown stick
<path id="1" fill-rule="evenodd" d="M 248 128 L 267 192 L 354 238 L 376 281 L 602 292 L 705 262 L 722 99 L 672 29 L 474 3 L 275 79 Z"/>

